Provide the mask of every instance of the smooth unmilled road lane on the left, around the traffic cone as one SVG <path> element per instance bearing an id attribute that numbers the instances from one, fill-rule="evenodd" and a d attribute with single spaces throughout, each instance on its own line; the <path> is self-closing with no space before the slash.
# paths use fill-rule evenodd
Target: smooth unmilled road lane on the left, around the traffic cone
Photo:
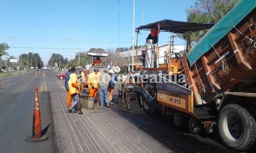
<path id="1" fill-rule="evenodd" d="M 0 89 L 0 152 L 55 152 L 50 90 L 40 90 L 41 82 L 55 81 L 54 76 L 53 72 L 46 72 L 46 76 L 35 76 L 33 72 L 32 75 L 0 78 L 3 88 Z M 35 86 L 39 88 L 42 134 L 49 138 L 44 142 L 29 143 L 24 140 L 32 136 Z"/>

